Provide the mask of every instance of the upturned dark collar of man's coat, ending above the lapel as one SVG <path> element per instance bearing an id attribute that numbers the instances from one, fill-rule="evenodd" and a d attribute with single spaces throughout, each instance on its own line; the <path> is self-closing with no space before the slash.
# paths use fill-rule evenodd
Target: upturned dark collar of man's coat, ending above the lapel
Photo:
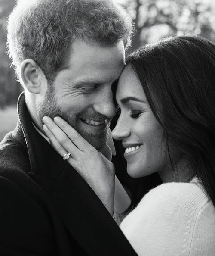
<path id="1" fill-rule="evenodd" d="M 18 117 L 15 132 L 20 143 L 25 144 L 25 147 L 27 145 L 31 172 L 49 179 L 56 179 L 68 163 L 35 130 L 25 104 L 24 93 L 18 99 Z"/>

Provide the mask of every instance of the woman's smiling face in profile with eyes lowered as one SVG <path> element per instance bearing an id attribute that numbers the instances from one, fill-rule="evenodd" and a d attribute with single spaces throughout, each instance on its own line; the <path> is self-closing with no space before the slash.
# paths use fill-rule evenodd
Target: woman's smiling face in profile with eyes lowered
<path id="1" fill-rule="evenodd" d="M 138 178 L 163 171 L 167 167 L 163 128 L 130 64 L 120 76 L 116 98 L 121 113 L 112 135 L 123 142 L 128 174 Z"/>

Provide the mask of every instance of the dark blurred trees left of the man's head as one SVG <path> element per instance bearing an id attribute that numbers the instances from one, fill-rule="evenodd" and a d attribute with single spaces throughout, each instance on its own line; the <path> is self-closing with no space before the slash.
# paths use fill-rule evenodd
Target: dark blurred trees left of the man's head
<path id="1" fill-rule="evenodd" d="M 15 79 L 14 70 L 10 68 L 11 61 L 6 53 L 7 17 L 15 3 L 15 0 L 0 0 L 0 109 L 16 103 L 22 91 L 21 85 Z"/>

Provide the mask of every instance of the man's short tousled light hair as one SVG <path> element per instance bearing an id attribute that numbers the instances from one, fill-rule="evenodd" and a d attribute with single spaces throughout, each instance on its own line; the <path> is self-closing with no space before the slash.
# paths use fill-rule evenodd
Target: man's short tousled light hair
<path id="1" fill-rule="evenodd" d="M 31 1 L 31 0 L 29 0 Z M 25 59 L 34 59 L 48 81 L 63 69 L 72 42 L 130 45 L 132 22 L 112 0 L 34 0 L 15 6 L 8 22 L 8 50 L 18 75 Z"/>

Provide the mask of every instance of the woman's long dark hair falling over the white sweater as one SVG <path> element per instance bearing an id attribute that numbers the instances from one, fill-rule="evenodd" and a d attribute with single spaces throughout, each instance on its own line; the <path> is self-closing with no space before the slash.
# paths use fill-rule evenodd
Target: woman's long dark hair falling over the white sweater
<path id="1" fill-rule="evenodd" d="M 215 205 L 215 44 L 169 37 L 136 50 L 126 63 L 164 128 L 173 170 L 177 154 L 189 162 Z"/>

